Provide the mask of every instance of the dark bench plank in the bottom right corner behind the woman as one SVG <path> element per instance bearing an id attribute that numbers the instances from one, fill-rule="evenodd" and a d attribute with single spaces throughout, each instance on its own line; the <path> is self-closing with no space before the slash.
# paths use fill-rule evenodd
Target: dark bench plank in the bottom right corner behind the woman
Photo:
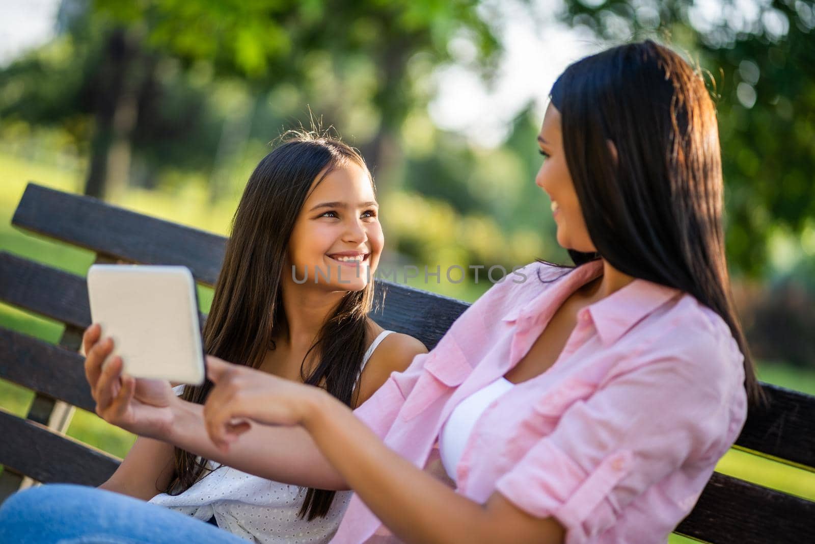
<path id="1" fill-rule="evenodd" d="M 716 544 L 810 542 L 815 502 L 714 473 L 676 533 Z"/>

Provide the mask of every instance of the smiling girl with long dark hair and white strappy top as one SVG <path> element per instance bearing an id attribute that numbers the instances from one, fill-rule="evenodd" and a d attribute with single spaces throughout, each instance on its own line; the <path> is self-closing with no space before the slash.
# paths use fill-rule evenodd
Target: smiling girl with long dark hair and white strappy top
<path id="1" fill-rule="evenodd" d="M 352 408 L 426 352 L 367 317 L 383 245 L 377 207 L 355 150 L 316 133 L 285 135 L 254 170 L 236 210 L 204 327 L 206 351 L 323 387 Z M 184 400 L 200 404 L 212 384 L 181 387 Z M 100 487 L 254 542 L 327 542 L 349 499 L 218 467 L 148 438 L 136 440 Z"/>

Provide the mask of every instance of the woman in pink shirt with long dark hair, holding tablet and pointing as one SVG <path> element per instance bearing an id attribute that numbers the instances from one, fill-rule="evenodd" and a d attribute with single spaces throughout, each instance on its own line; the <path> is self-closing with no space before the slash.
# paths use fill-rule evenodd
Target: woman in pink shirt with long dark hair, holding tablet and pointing
<path id="1" fill-rule="evenodd" d="M 535 183 L 578 266 L 532 263 L 494 286 L 354 413 L 215 358 L 203 409 L 114 394 L 120 366 L 97 343 L 99 413 L 242 470 L 353 489 L 332 542 L 664 542 L 760 396 L 729 295 L 713 105 L 679 55 L 619 46 L 558 78 L 538 143 Z"/>

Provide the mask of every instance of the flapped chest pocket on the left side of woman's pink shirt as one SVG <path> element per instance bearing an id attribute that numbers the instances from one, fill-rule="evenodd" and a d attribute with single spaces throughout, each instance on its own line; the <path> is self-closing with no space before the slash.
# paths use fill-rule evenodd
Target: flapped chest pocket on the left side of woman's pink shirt
<path id="1" fill-rule="evenodd" d="M 456 341 L 448 337 L 447 342 L 439 342 L 430 352 L 424 370 L 402 407 L 401 417 L 405 421 L 415 418 L 441 397 L 449 396 L 473 368 Z"/>

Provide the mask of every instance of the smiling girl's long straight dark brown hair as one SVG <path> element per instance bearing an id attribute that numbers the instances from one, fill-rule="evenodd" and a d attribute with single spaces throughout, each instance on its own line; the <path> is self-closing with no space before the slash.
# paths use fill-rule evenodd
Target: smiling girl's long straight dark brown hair
<path id="1" fill-rule="evenodd" d="M 325 134 L 290 130 L 283 143 L 260 161 L 249 177 L 232 218 L 212 307 L 204 326 L 204 347 L 209 355 L 258 368 L 274 349 L 273 337 L 287 327 L 282 303 L 284 257 L 295 220 L 311 184 L 348 162 L 367 170 L 353 148 Z M 370 177 L 370 173 L 368 173 Z M 373 184 L 373 179 L 371 179 Z M 355 402 L 355 383 L 366 349 L 367 315 L 373 301 L 373 283 L 349 291 L 319 330 L 301 365 L 305 383 L 324 387 L 346 405 Z M 308 353 L 316 350 L 319 364 L 305 375 Z M 213 384 L 184 388 L 183 399 L 203 404 Z M 165 493 L 189 489 L 204 473 L 207 460 L 175 449 L 174 479 Z M 300 517 L 324 517 L 336 492 L 308 489 Z"/>

